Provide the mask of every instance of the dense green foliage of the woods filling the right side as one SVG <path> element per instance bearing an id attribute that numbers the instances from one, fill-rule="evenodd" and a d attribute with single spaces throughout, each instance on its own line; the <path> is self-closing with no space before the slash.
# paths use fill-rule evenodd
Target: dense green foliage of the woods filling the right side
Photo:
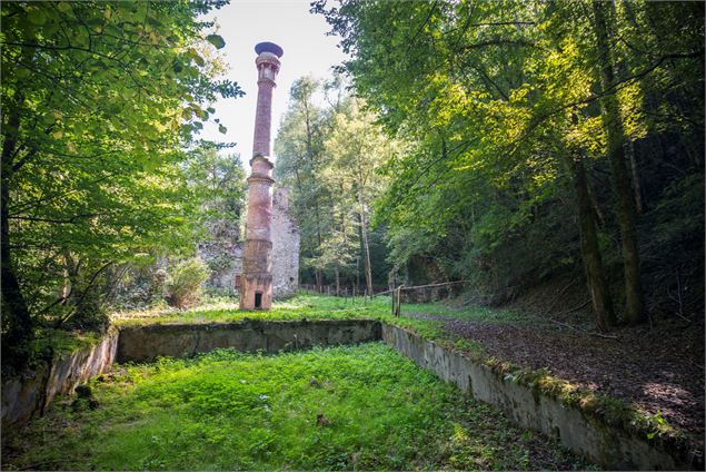
<path id="1" fill-rule="evenodd" d="M 703 286 L 703 242 L 682 253 L 692 263 L 658 243 L 666 233 L 703 233 L 703 4 L 616 4 L 607 21 L 617 67 L 606 88 L 599 77 L 609 58 L 596 46 L 591 3 L 331 3 L 317 1 L 312 11 L 351 55 L 345 70 L 356 95 L 405 142 L 382 167 L 389 186 L 376 218 L 406 277 L 471 279 L 494 303 L 558 274 L 580 277 L 575 175 L 566 165 L 578 160 L 607 242 L 608 279 L 622 278 L 626 255 L 615 242 L 627 237 L 613 174 L 616 188 L 640 186 L 629 197 L 643 205 L 637 229 L 652 308 L 678 307 L 659 291 L 664 283 L 648 281 L 669 278 L 674 299 L 686 295 L 675 269 Z M 606 101 L 617 104 L 620 124 L 604 120 Z M 617 147 L 634 168 L 627 176 L 606 159 L 616 126 L 624 135 Z M 670 194 L 676 213 L 653 215 L 675 186 L 689 197 Z M 699 295 L 690 311 L 703 307 Z"/>

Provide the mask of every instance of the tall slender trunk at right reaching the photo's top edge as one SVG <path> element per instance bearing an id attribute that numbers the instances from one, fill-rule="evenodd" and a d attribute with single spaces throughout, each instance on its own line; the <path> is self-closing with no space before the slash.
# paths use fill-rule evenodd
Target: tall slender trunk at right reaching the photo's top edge
<path id="1" fill-rule="evenodd" d="M 610 14 L 615 16 L 615 7 L 610 2 L 594 1 L 593 10 L 596 45 L 598 56 L 603 61 L 599 68 L 600 85 L 603 90 L 608 90 L 614 82 L 613 56 L 608 43 L 610 37 L 608 21 L 610 20 Z M 625 130 L 616 95 L 608 94 L 600 101 L 604 109 L 603 120 L 608 141 L 608 159 L 610 159 L 613 181 L 618 200 L 617 214 L 625 277 L 625 321 L 629 324 L 637 324 L 645 319 L 645 306 L 639 279 L 635 199 L 625 158 Z"/>

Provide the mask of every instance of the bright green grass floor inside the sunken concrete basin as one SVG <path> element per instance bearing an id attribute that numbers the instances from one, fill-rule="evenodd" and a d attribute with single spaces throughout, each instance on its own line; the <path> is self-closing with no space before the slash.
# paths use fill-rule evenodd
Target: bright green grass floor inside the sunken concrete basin
<path id="1" fill-rule="evenodd" d="M 117 365 L 4 439 L 2 469 L 586 469 L 382 343 Z"/>

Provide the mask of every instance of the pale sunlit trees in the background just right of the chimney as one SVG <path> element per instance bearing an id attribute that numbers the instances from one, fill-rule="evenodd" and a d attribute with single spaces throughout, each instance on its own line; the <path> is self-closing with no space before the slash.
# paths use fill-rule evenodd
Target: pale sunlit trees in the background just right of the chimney
<path id="1" fill-rule="evenodd" d="M 337 98 L 331 100 L 334 91 Z M 321 95 L 328 97 L 328 107 L 319 105 Z M 387 284 L 385 236 L 372 234 L 371 219 L 372 203 L 386 187 L 377 170 L 395 147 L 375 116 L 344 94 L 340 78 L 321 83 L 304 77 L 295 82 L 275 141 L 275 173 L 291 190 L 301 229 L 304 281 L 314 273 L 319 284 L 324 277 L 346 286 L 367 278 Z M 382 257 L 374 257 L 376 253 Z"/>

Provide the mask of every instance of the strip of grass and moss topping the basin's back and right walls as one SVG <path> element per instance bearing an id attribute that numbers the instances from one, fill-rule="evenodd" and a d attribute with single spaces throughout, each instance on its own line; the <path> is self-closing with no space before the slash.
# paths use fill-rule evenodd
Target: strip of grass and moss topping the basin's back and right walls
<path id="1" fill-rule="evenodd" d="M 409 330 L 421 337 L 445 347 L 463 352 L 477 362 L 487 365 L 506 381 L 520 383 L 538 392 L 555 397 L 567 406 L 576 406 L 586 414 L 601 417 L 608 424 L 654 439 L 670 441 L 676 448 L 689 442 L 684 431 L 669 424 L 658 414 L 647 413 L 630 402 L 600 392 L 580 389 L 566 380 L 558 378 L 546 368 L 533 370 L 516 365 L 507 360 L 491 356 L 483 344 L 466 340 L 445 328 L 443 321 L 461 319 L 484 324 L 537 324 L 541 319 L 527 314 L 485 307 L 450 307 L 443 303 L 402 304 L 402 317 L 390 314 L 389 297 L 372 301 L 344 298 L 311 294 L 299 294 L 287 302 L 276 303 L 271 311 L 240 312 L 233 304 L 199 307 L 179 312 L 126 312 L 116 313 L 113 322 L 120 325 L 171 324 L 171 323 L 229 323 L 247 319 L 300 321 L 300 319 L 380 319 L 385 323 Z M 415 317 L 415 314 L 436 315 Z"/>

